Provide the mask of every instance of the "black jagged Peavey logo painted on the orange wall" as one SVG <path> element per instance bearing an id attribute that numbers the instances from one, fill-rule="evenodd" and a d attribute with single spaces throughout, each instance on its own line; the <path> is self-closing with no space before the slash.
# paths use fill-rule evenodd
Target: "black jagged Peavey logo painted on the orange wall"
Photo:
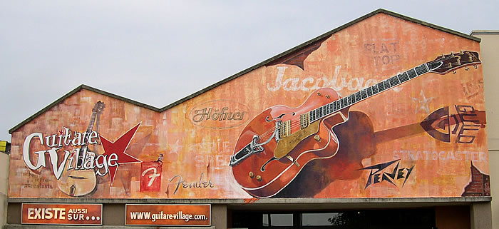
<path id="1" fill-rule="evenodd" d="M 397 162 L 398 161 L 398 162 Z M 396 166 L 393 168 L 393 170 L 386 170 L 384 171 L 385 168 L 391 166 L 393 163 L 396 163 Z M 377 164 L 374 166 L 368 166 L 366 168 L 361 168 L 361 170 L 371 170 L 369 173 L 369 178 L 367 178 L 366 182 L 366 189 L 369 187 L 369 185 L 375 184 L 375 183 L 381 183 L 383 181 L 388 181 L 392 185 L 397 186 L 394 182 L 396 180 L 401 180 L 403 179 L 403 185 L 406 184 L 407 179 L 409 178 L 409 175 L 411 175 L 411 172 L 413 171 L 414 166 L 411 168 L 398 168 L 398 165 L 400 164 L 400 159 L 386 162 L 386 163 L 381 163 Z"/>

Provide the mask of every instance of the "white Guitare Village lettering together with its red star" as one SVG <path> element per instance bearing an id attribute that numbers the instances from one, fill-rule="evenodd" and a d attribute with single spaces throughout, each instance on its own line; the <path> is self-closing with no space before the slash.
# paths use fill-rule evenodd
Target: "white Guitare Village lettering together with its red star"
<path id="1" fill-rule="evenodd" d="M 31 170 L 38 168 L 46 168 L 46 157 L 48 153 L 52 164 L 53 175 L 57 180 L 61 178 L 63 171 L 78 171 L 78 170 L 94 170 L 96 175 L 106 175 L 109 173 L 110 182 L 113 183 L 118 166 L 123 163 L 138 163 L 142 162 L 133 156 L 125 153 L 126 148 L 130 144 L 135 132 L 137 132 L 140 123 L 131 128 L 129 131 L 120 136 L 116 141 L 110 142 L 103 136 L 99 136 L 96 131 L 80 133 L 75 131 L 74 134 L 68 128 L 63 128 L 58 135 L 43 137 L 42 133 L 31 133 L 24 139 L 23 145 L 23 161 Z M 32 141 L 38 142 L 41 146 L 47 146 L 49 149 L 36 151 L 31 153 L 30 146 Z M 88 144 L 97 144 L 97 139 L 101 140 L 104 148 L 104 153 L 96 155 L 88 151 Z M 43 141 L 45 140 L 45 141 Z M 73 146 L 73 151 L 62 150 L 64 146 Z M 59 153 L 63 153 L 63 159 L 59 162 Z M 31 155 L 37 155 L 36 165 L 31 162 Z M 64 169 L 66 168 L 66 170 Z"/>

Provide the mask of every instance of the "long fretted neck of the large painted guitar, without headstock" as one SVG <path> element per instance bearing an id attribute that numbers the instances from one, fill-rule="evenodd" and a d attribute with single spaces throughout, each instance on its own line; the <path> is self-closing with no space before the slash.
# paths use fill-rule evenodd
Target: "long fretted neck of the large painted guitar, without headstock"
<path id="1" fill-rule="evenodd" d="M 356 93 L 352 93 L 349 96 L 339 98 L 336 101 L 328 103 L 319 108 L 315 108 L 314 110 L 305 113 L 305 115 L 308 114 L 309 123 L 313 123 L 314 121 L 318 121 L 321 118 L 324 118 L 325 116 L 329 116 L 331 113 L 335 113 L 343 108 L 352 106 L 355 103 L 364 101 L 365 99 L 370 98 L 371 96 L 375 96 L 378 93 L 387 91 L 391 88 L 401 85 L 402 83 L 406 83 L 407 81 L 410 81 L 413 78 L 428 73 L 429 71 L 430 69 L 428 68 L 428 64 L 423 63 L 420 66 L 411 68 L 408 71 L 404 71 L 403 73 L 400 73 L 391 78 L 387 78 L 386 80 L 376 83 L 373 86 L 369 86 L 368 88 L 364 88 L 360 91 L 357 91 Z M 302 118 L 307 119 L 306 116 L 303 116 Z"/>

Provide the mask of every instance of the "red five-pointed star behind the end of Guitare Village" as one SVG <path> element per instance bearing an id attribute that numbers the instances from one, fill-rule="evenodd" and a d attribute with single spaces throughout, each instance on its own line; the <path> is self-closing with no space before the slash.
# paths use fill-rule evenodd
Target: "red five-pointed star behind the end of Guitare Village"
<path id="1" fill-rule="evenodd" d="M 118 170 L 120 164 L 142 162 L 137 158 L 130 156 L 128 153 L 125 153 L 126 148 L 128 147 L 128 145 L 130 145 L 130 141 L 132 141 L 132 138 L 135 135 L 135 132 L 137 132 L 139 126 L 140 123 L 131 128 L 130 131 L 124 133 L 122 136 L 120 136 L 120 138 L 116 139 L 116 141 L 114 142 L 110 142 L 108 141 L 108 139 L 99 135 L 102 147 L 104 148 L 103 155 L 106 156 L 106 158 L 109 158 L 111 154 L 116 153 L 116 155 L 118 156 L 118 161 L 116 161 L 118 163 L 118 166 L 109 166 L 109 175 L 110 175 L 109 180 L 111 182 L 111 185 L 113 185 L 114 177 L 116 175 L 116 171 Z"/>

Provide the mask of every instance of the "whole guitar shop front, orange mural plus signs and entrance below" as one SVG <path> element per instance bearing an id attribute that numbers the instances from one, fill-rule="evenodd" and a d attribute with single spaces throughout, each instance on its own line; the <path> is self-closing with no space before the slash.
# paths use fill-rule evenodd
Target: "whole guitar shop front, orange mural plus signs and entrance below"
<path id="1" fill-rule="evenodd" d="M 491 228 L 480 39 L 378 10 L 155 108 L 10 130 L 7 228 Z M 488 108 L 488 107 L 487 107 Z"/>

